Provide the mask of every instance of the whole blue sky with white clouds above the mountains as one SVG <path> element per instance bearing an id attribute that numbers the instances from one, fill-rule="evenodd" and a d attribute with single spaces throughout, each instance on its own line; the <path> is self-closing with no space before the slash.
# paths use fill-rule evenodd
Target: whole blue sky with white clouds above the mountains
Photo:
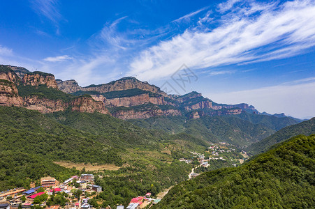
<path id="1" fill-rule="evenodd" d="M 315 116 L 315 1 L 0 1 L 0 63 Z M 176 83 L 182 65 L 194 77 Z M 173 93 L 175 93 L 173 91 Z"/>

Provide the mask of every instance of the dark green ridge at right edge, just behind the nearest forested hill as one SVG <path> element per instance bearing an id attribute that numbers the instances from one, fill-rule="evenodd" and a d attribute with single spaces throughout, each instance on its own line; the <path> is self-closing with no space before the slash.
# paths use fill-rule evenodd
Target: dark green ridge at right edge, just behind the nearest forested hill
<path id="1" fill-rule="evenodd" d="M 282 128 L 278 132 L 275 132 L 270 137 L 267 137 L 255 144 L 251 144 L 246 148 L 247 152 L 251 155 L 257 155 L 258 153 L 263 153 L 268 150 L 274 144 L 278 144 L 286 139 L 289 139 L 297 134 L 315 134 L 315 118 L 309 121 L 303 121 L 295 125 L 290 125 Z"/>

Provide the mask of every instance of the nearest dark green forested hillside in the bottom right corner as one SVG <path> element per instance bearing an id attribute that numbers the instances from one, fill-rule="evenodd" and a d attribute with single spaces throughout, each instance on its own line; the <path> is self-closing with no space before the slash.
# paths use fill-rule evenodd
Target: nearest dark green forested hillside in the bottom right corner
<path id="1" fill-rule="evenodd" d="M 175 186 L 155 208 L 314 208 L 315 135 Z"/>

